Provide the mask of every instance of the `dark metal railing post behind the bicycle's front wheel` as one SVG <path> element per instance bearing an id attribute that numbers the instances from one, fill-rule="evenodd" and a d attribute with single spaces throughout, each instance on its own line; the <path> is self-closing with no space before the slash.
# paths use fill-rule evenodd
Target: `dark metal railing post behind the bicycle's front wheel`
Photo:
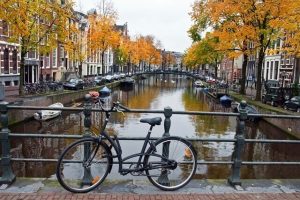
<path id="1" fill-rule="evenodd" d="M 84 96 L 84 134 L 83 138 L 91 137 L 91 114 L 92 114 L 92 97 L 89 94 Z M 84 160 L 86 161 L 89 159 L 91 154 L 91 147 L 89 144 L 84 145 Z M 82 178 L 82 185 L 91 185 L 93 177 L 91 175 L 91 169 L 85 168 L 83 178 Z"/>

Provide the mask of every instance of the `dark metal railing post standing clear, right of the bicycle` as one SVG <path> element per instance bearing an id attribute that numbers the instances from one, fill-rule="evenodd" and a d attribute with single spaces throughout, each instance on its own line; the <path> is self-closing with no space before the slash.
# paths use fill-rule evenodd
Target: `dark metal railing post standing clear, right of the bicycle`
<path id="1" fill-rule="evenodd" d="M 231 176 L 228 178 L 228 183 L 232 186 L 241 185 L 241 166 L 242 166 L 242 151 L 244 150 L 245 145 L 245 120 L 247 119 L 246 112 L 246 101 L 241 101 L 240 103 L 240 115 L 237 117 L 237 126 L 236 126 L 236 135 L 235 135 L 235 146 L 234 152 L 232 153 L 231 160 L 232 171 Z"/>

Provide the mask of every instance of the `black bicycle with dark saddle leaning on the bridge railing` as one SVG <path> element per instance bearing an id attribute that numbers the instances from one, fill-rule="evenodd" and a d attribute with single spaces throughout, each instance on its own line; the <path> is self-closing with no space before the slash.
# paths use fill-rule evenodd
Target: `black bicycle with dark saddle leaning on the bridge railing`
<path id="1" fill-rule="evenodd" d="M 189 141 L 176 136 L 162 137 L 156 141 L 150 139 L 153 127 L 161 124 L 160 117 L 140 120 L 150 125 L 142 149 L 139 153 L 122 158 L 118 137 L 108 136 L 105 128 L 111 112 L 128 111 L 129 108 L 116 102 L 110 109 L 104 109 L 103 103 L 100 103 L 100 107 L 106 118 L 99 136 L 87 136 L 73 142 L 58 159 L 56 176 L 63 188 L 74 193 L 95 189 L 111 172 L 115 158 L 119 162 L 118 171 L 121 175 L 130 173 L 133 176 L 146 176 L 154 186 L 162 190 L 179 189 L 192 179 L 197 157 Z M 128 161 L 133 158 L 137 158 L 137 162 Z M 125 168 L 125 164 L 130 166 Z"/>

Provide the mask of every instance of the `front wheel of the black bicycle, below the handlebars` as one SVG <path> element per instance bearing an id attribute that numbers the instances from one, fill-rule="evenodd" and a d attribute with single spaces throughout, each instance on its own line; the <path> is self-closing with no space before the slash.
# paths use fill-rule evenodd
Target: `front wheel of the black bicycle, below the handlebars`
<path id="1" fill-rule="evenodd" d="M 66 190 L 85 193 L 100 185 L 110 168 L 111 152 L 107 145 L 88 138 L 74 142 L 61 154 L 56 176 Z"/>

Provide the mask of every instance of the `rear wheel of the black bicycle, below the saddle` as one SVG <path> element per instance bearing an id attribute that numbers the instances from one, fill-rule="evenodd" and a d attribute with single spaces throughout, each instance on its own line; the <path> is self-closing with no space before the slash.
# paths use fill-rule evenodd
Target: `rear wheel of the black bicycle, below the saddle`
<path id="1" fill-rule="evenodd" d="M 145 173 L 149 181 L 166 191 L 177 190 L 188 184 L 197 167 L 197 155 L 192 144 L 183 138 L 171 136 L 159 139 L 154 146 L 155 148 L 150 146 L 144 158 Z M 164 153 L 166 149 L 169 153 Z M 176 162 L 174 169 L 159 166 L 155 168 L 156 163 L 167 160 Z"/>

